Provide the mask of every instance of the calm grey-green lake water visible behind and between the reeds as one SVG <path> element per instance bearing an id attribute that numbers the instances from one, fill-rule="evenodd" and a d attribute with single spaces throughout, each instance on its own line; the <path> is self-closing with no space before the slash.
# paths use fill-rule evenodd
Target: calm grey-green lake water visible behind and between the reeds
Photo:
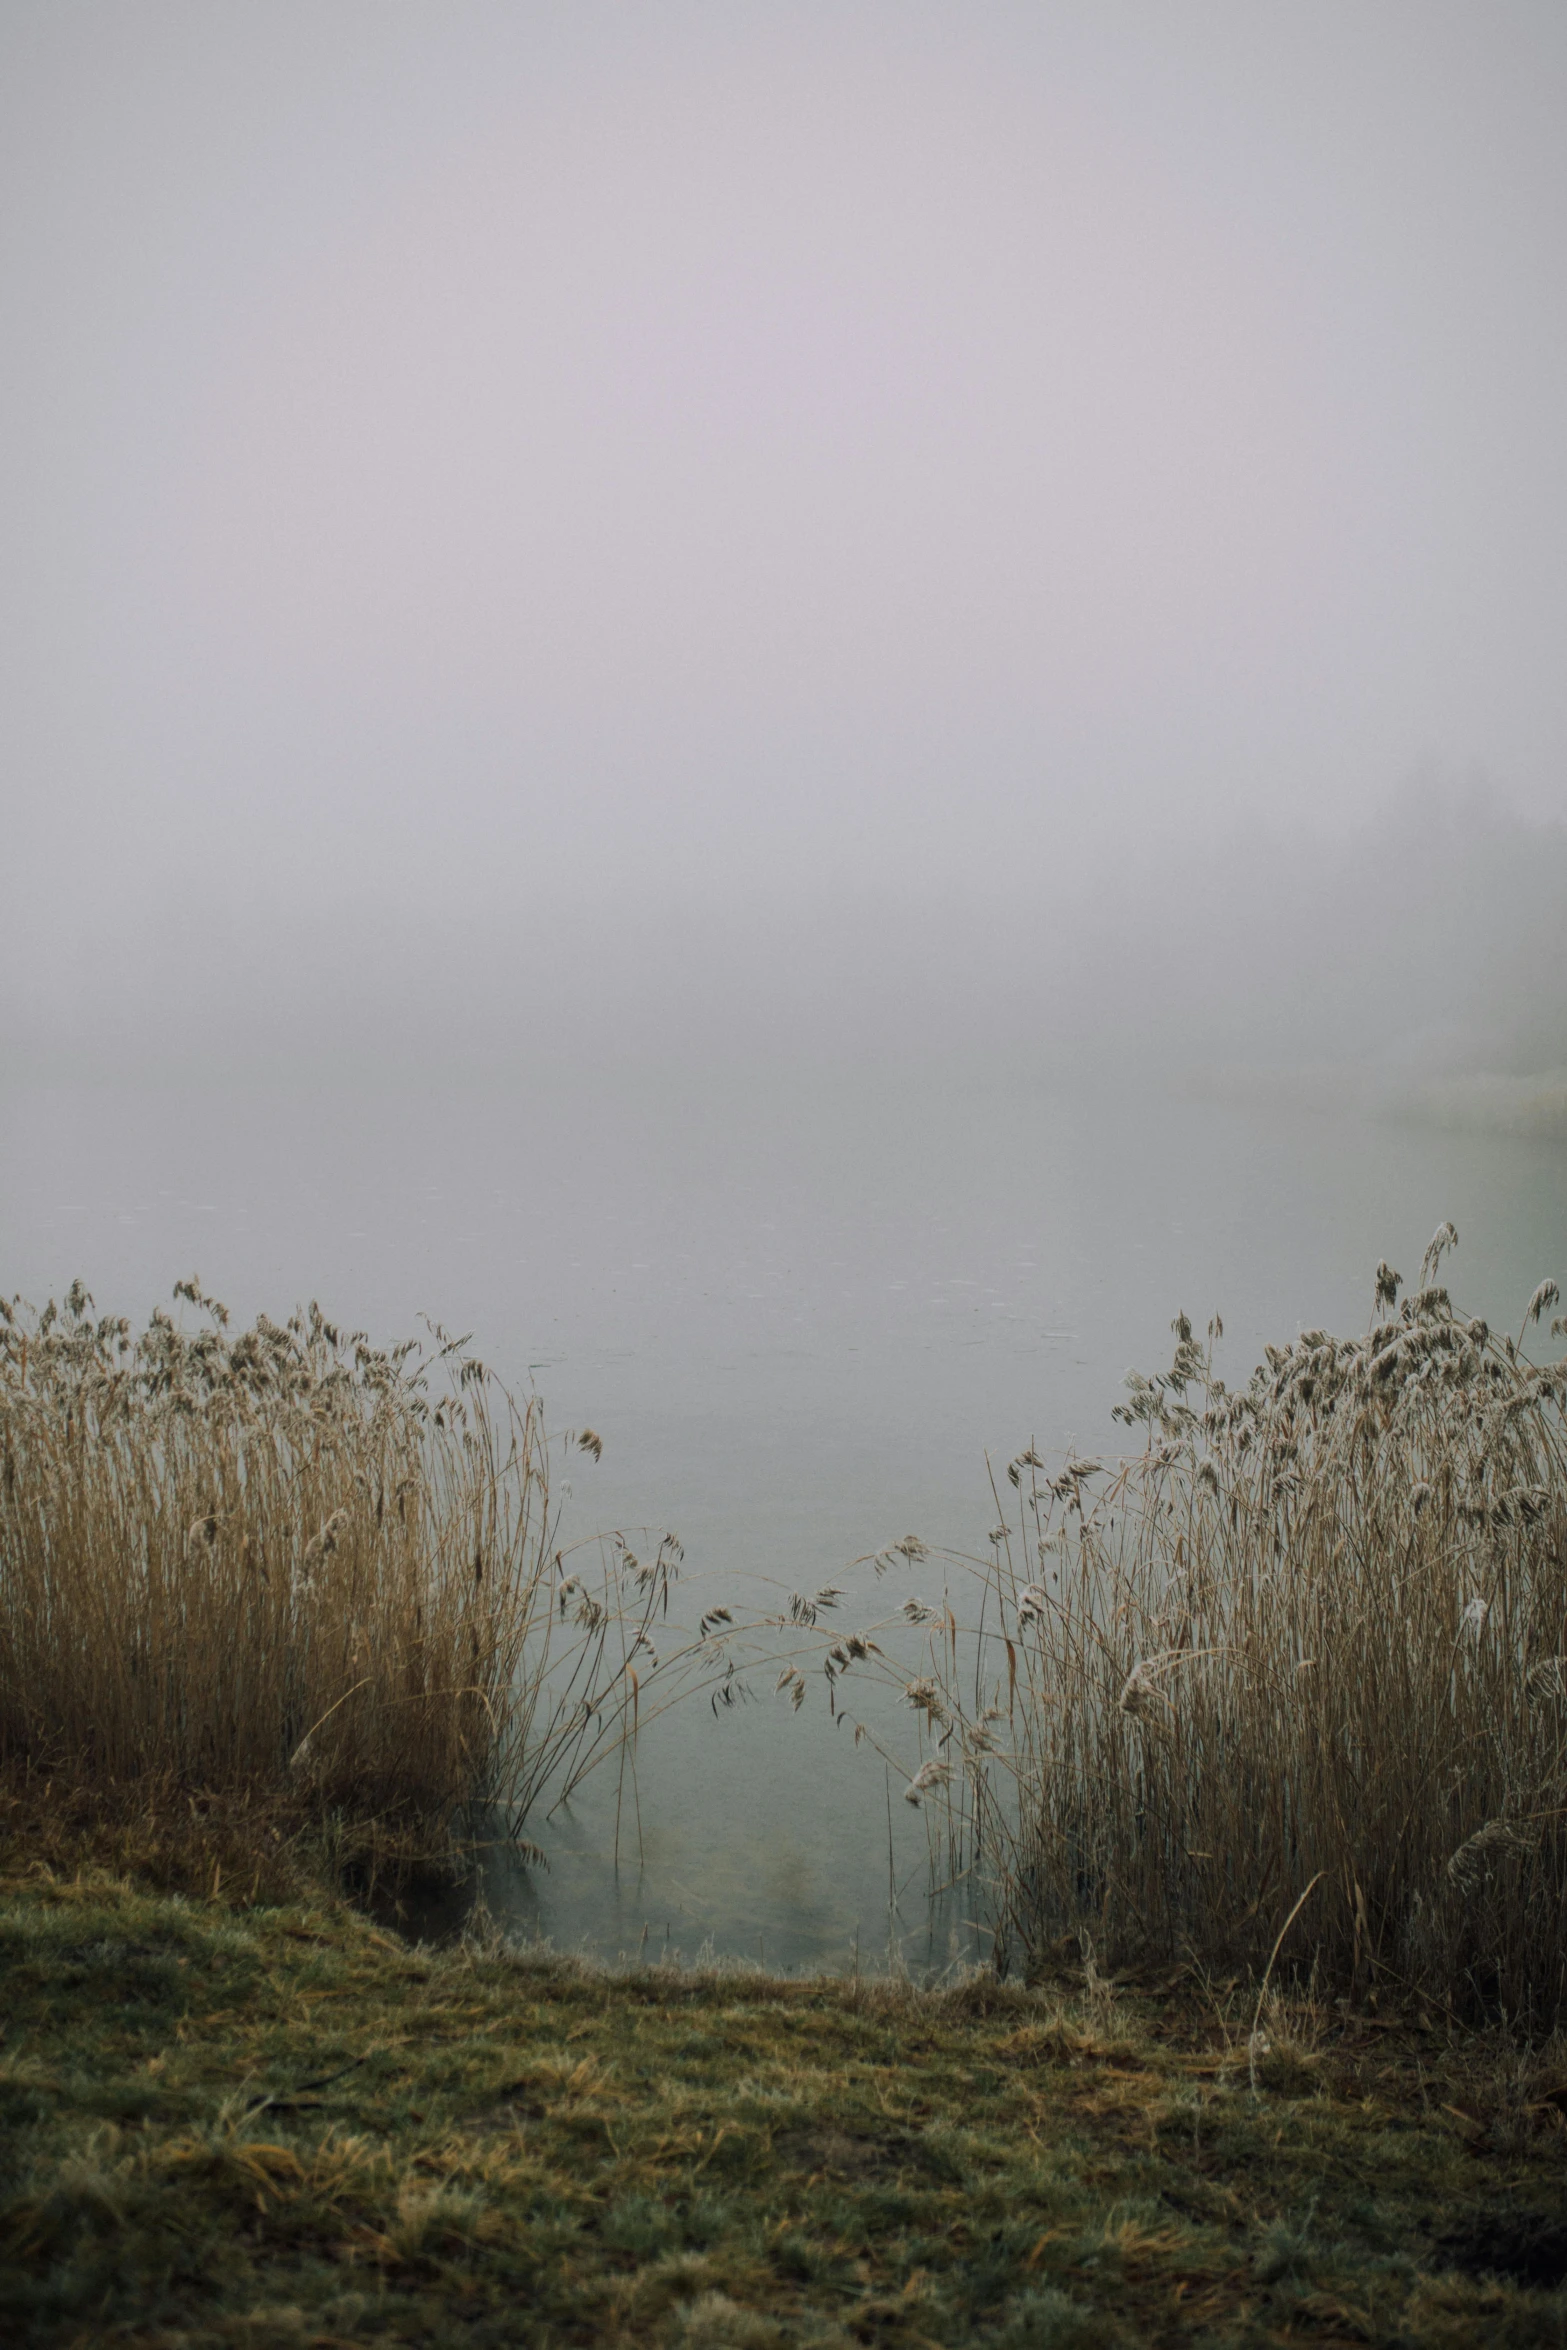
<path id="1" fill-rule="evenodd" d="M 1567 1276 L 1567 1152 L 1511 1137 L 1052 1097 L 1027 1086 L 42 1088 L 2 1095 L 7 1290 L 82 1274 L 146 1316 L 197 1271 L 237 1316 L 320 1297 L 397 1337 L 421 1311 L 592 1424 L 569 1532 L 672 1528 L 686 1610 L 848 1584 L 916 1532 L 982 1551 L 987 1450 L 1116 1450 L 1128 1365 L 1177 1309 L 1224 1316 L 1222 1370 L 1264 1340 L 1358 1328 L 1386 1255 L 1414 1274 L 1454 1217 L 1454 1292 L 1515 1323 Z M 912 1751 L 912 1739 L 900 1732 Z M 493 1906 L 564 1948 L 702 1948 L 768 1965 L 975 1955 L 926 1904 L 921 1819 L 820 1687 L 667 1716 L 641 1741 L 641 1854 L 613 1861 L 613 1786 L 533 1821 L 550 1871 Z M 888 1882 L 897 1892 L 890 1911 Z"/>

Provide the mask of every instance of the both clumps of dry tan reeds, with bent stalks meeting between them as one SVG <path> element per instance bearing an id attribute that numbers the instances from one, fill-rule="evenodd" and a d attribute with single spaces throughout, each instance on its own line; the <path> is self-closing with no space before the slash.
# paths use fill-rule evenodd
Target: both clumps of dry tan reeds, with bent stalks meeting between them
<path id="1" fill-rule="evenodd" d="M 907 1537 L 876 1567 L 944 1574 L 937 1605 L 853 1631 L 827 1584 L 681 1636 L 670 1535 L 571 1567 L 538 1403 L 439 1330 L 381 1351 L 312 1307 L 230 1337 L 195 1281 L 195 1335 L 157 1314 L 134 1340 L 80 1285 L 0 1307 L 0 1770 L 439 1852 L 479 1802 L 519 1833 L 597 1760 L 625 1784 L 670 1692 L 717 1706 L 761 1668 L 801 1704 L 815 1650 L 834 1711 L 869 1711 L 872 1678 L 902 1701 L 904 1791 L 998 1972 L 1083 1932 L 1102 1960 L 1374 1983 L 1544 2037 L 1567 2019 L 1567 1363 L 1525 1344 L 1555 1283 L 1497 1332 L 1438 1278 L 1454 1243 L 1403 1300 L 1379 1264 L 1363 1335 L 1306 1330 L 1243 1386 L 1219 1325 L 1203 1347 L 1177 1316 L 1170 1370 L 1118 1408 L 1130 1457 L 1029 1445 L 991 1556 L 928 1565 Z M 902 1760 L 886 1713 L 865 1737 Z"/>

